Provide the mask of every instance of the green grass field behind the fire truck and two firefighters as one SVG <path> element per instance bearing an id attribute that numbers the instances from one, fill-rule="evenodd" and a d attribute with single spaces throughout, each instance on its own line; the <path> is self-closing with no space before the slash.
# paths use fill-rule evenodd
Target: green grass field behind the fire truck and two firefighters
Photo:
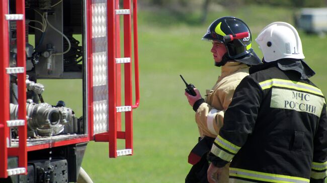
<path id="1" fill-rule="evenodd" d="M 274 14 L 274 15 L 272 15 Z M 213 86 L 219 68 L 213 66 L 211 43 L 201 41 L 207 26 L 221 16 L 235 16 L 247 22 L 253 32 L 253 48 L 262 57 L 254 38 L 266 25 L 276 21 L 293 24 L 292 12 L 271 7 L 243 7 L 235 13 L 211 11 L 204 25 L 188 25 L 165 13 L 139 11 L 140 94 L 134 110 L 134 155 L 108 158 L 108 144 L 90 142 L 82 166 L 96 183 L 102 182 L 184 182 L 191 165 L 187 156 L 197 142 L 194 111 L 184 96 L 179 74 L 200 92 Z M 327 93 L 326 38 L 300 32 L 305 60 L 316 71 L 312 81 Z M 40 81 L 42 83 L 42 81 Z M 79 80 L 60 81 L 67 90 L 65 98 L 52 99 L 61 89 L 46 84 L 49 103 L 65 100 L 66 105 L 81 106 Z M 60 91 L 61 92 L 61 91 Z M 81 115 L 81 109 L 76 113 Z"/>

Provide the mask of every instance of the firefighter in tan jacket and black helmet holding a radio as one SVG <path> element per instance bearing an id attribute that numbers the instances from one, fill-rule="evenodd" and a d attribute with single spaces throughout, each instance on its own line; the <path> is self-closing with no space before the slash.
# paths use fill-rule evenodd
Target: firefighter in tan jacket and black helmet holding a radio
<path id="1" fill-rule="evenodd" d="M 233 39 L 238 34 L 247 33 L 246 37 Z M 236 37 L 235 37 L 236 38 Z M 185 92 L 189 104 L 196 112 L 195 120 L 199 128 L 199 142 L 189 155 L 193 164 L 185 182 L 208 182 L 206 155 L 210 151 L 219 129 L 223 125 L 225 110 L 231 102 L 234 90 L 240 81 L 249 75 L 249 65 L 262 63 L 251 48 L 249 27 L 235 17 L 222 17 L 215 20 L 208 28 L 202 40 L 212 42 L 212 55 L 215 66 L 221 67 L 221 75 L 211 90 L 206 91 L 205 99 L 199 90 L 196 96 Z M 224 167 L 220 182 L 228 182 L 228 164 Z"/>

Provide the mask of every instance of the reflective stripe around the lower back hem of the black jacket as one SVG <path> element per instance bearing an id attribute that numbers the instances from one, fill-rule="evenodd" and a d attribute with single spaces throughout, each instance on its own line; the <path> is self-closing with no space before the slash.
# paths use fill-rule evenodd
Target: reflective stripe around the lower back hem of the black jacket
<path id="1" fill-rule="evenodd" d="M 259 171 L 252 171 L 240 168 L 229 168 L 229 176 L 248 178 L 253 180 L 267 181 L 267 182 L 283 182 L 283 183 L 306 183 L 310 179 L 296 176 L 288 176 L 273 173 L 264 173 Z"/>

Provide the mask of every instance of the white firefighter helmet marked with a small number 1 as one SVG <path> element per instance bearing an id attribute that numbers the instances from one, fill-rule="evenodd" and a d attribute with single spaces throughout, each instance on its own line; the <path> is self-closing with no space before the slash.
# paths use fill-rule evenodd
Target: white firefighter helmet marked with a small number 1
<path id="1" fill-rule="evenodd" d="M 274 22 L 265 27 L 256 39 L 266 62 L 279 59 L 304 59 L 302 43 L 296 29 L 285 22 Z"/>

